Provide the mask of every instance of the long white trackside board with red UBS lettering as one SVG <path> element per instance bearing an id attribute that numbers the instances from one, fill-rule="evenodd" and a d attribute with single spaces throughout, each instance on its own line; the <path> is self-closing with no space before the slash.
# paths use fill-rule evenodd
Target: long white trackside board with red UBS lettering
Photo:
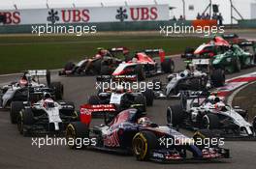
<path id="1" fill-rule="evenodd" d="M 7 25 L 155 21 L 169 19 L 168 5 L 2 11 Z"/>

